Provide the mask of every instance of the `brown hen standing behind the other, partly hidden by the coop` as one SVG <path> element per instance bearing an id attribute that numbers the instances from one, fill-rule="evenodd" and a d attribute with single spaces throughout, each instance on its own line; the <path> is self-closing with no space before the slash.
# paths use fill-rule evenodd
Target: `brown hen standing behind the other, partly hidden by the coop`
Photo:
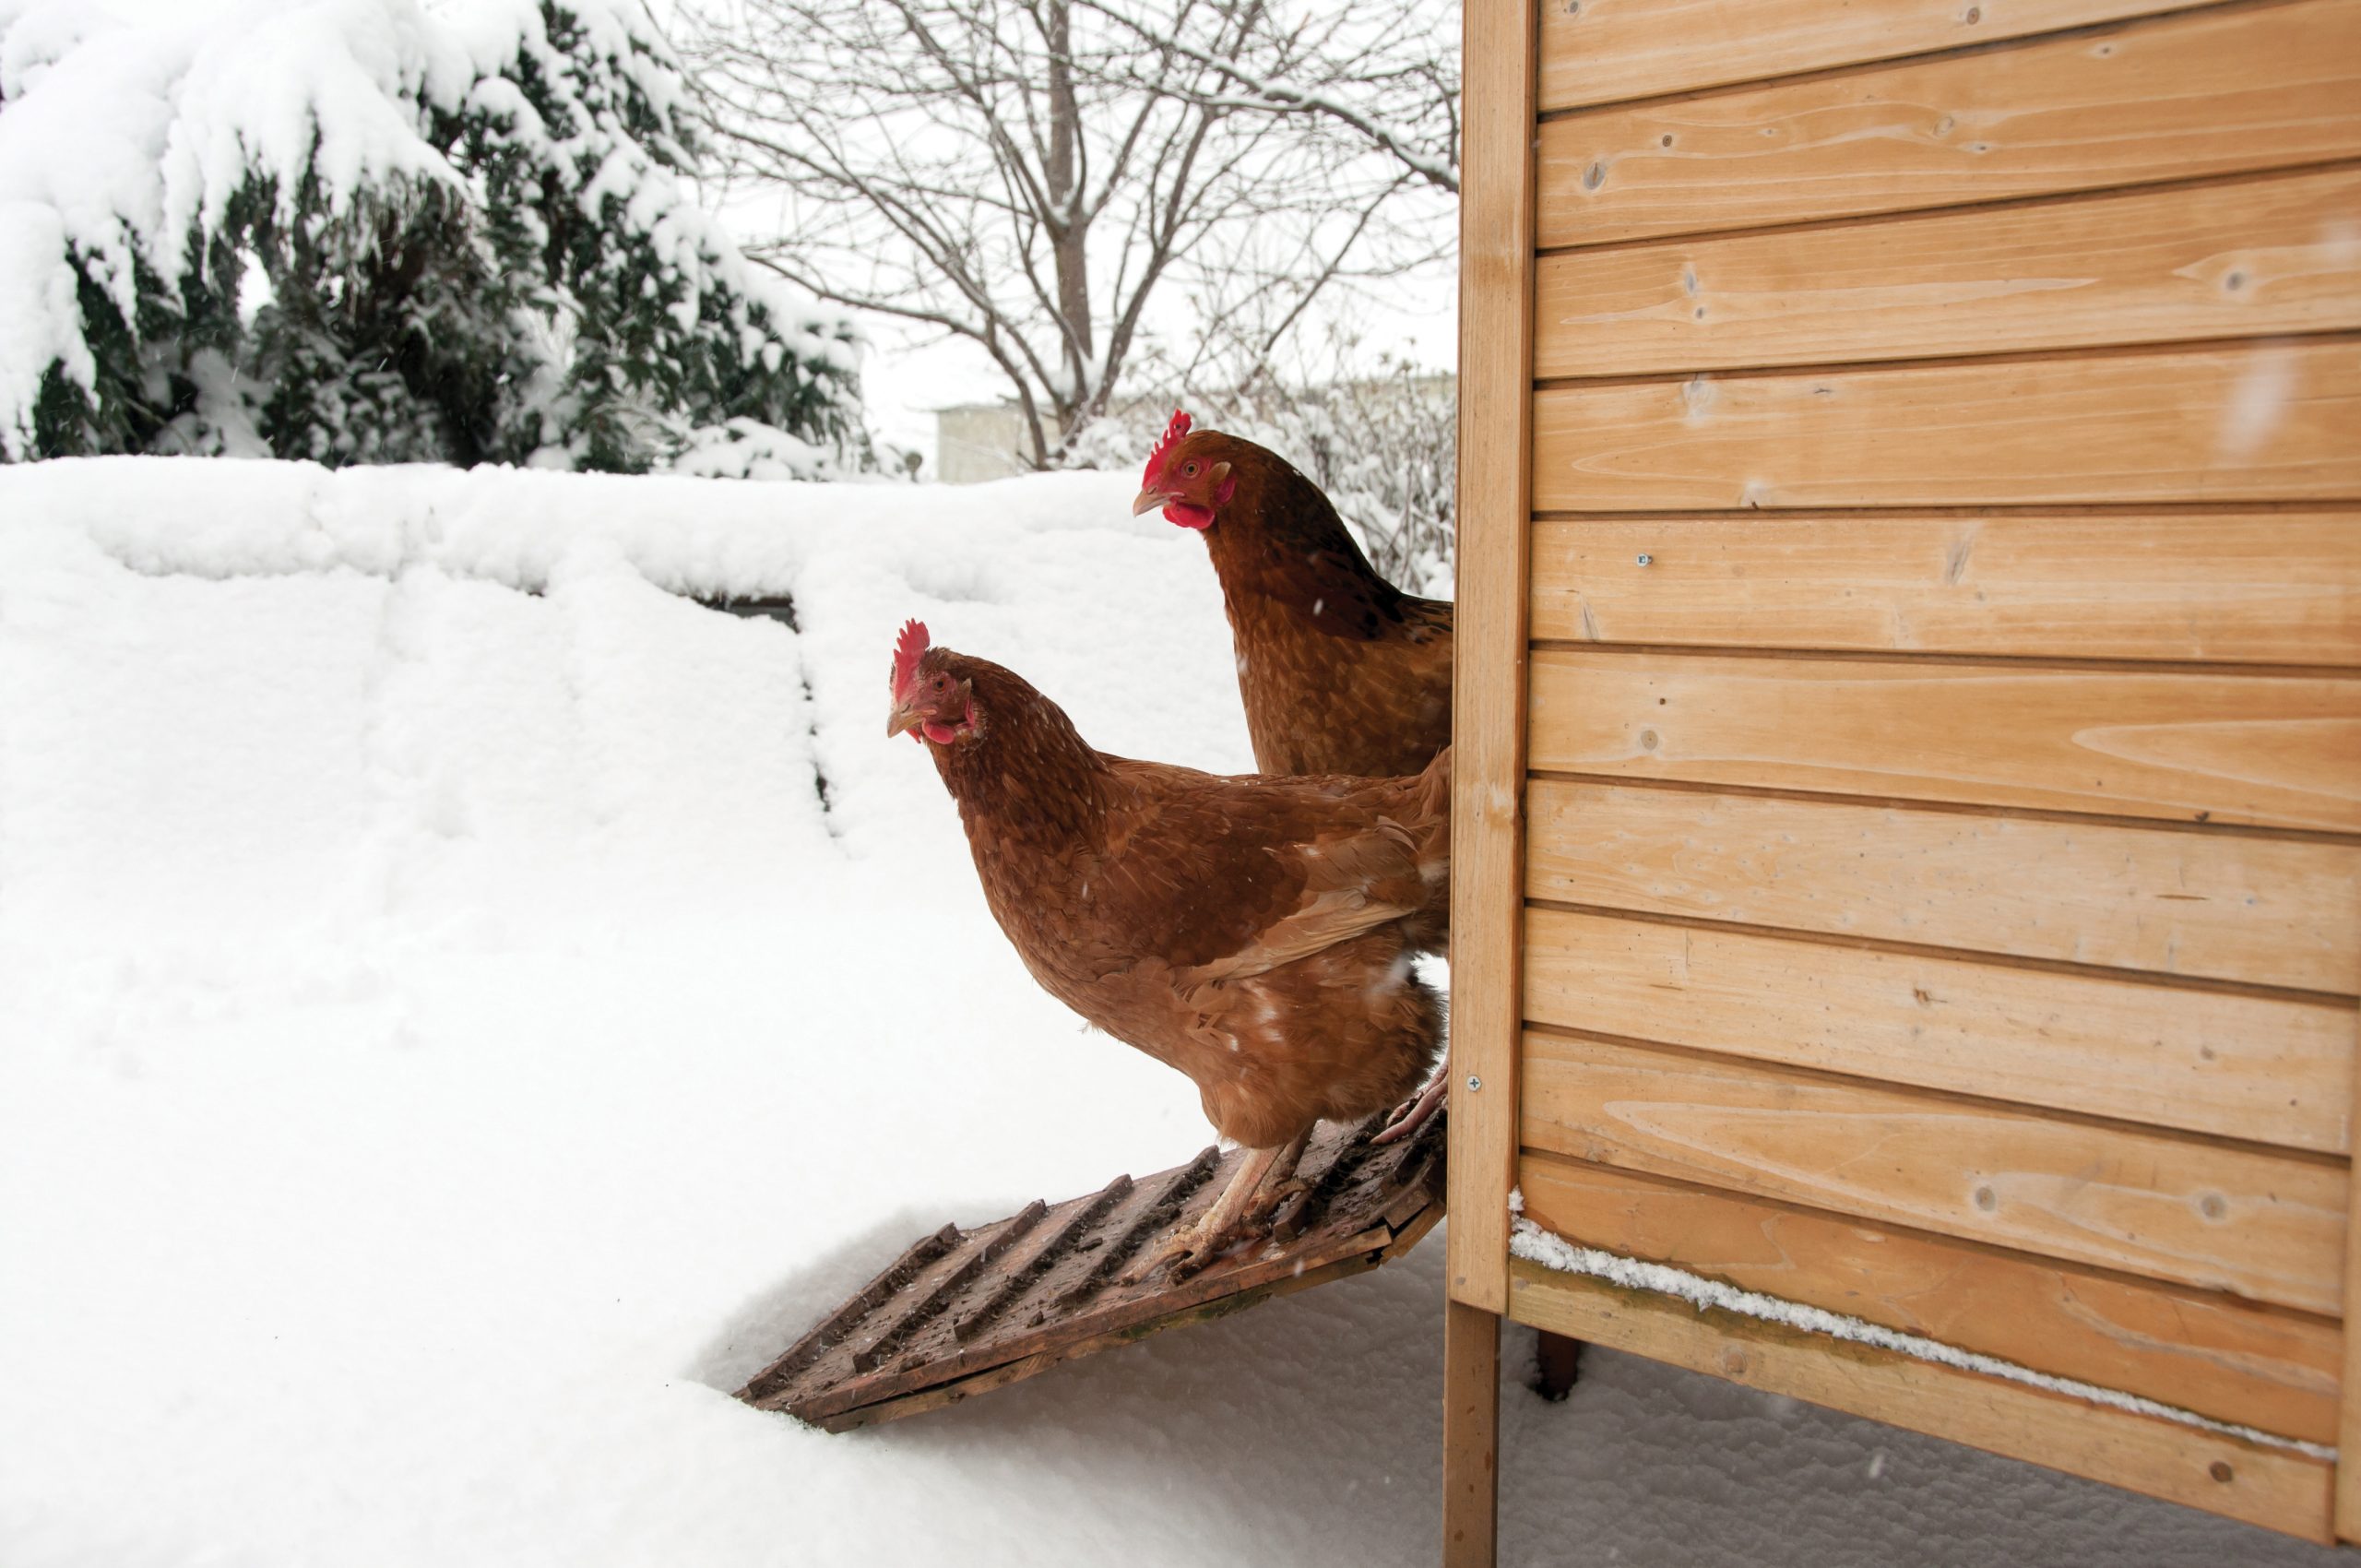
<path id="1" fill-rule="evenodd" d="M 1214 553 L 1258 770 L 1393 777 L 1452 744 L 1452 607 L 1381 579 L 1287 458 L 1173 413 L 1155 508 Z"/>

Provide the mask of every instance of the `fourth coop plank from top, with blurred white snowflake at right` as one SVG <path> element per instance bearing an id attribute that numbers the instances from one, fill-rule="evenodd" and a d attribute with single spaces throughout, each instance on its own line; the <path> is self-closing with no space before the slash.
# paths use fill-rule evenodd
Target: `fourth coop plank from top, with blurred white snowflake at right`
<path id="1" fill-rule="evenodd" d="M 2361 342 L 1546 387 L 1532 420 L 1544 512 L 2342 501 Z"/>

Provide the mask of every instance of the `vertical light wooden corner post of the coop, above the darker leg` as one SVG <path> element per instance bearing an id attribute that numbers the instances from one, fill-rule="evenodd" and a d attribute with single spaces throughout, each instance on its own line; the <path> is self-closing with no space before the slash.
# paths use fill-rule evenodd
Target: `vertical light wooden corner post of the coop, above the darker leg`
<path id="1" fill-rule="evenodd" d="M 1466 7 L 1452 673 L 1452 1301 L 1499 1313 L 1516 1181 L 1532 479 L 1532 0 Z M 1483 1089 L 1469 1089 L 1469 1082 Z"/>

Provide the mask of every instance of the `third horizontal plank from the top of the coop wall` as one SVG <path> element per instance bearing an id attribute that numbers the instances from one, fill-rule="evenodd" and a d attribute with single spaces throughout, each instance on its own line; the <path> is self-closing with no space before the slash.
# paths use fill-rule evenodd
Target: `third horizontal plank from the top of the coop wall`
<path id="1" fill-rule="evenodd" d="M 1532 373 L 1934 359 L 2361 326 L 2361 172 L 1617 246 L 1535 272 Z"/>

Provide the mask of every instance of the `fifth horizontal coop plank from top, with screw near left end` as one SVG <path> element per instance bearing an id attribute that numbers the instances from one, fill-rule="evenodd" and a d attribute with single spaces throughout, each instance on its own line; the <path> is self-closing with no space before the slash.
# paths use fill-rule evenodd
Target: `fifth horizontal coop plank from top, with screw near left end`
<path id="1" fill-rule="evenodd" d="M 1532 635 L 2361 664 L 2361 512 L 1542 520 Z"/>

